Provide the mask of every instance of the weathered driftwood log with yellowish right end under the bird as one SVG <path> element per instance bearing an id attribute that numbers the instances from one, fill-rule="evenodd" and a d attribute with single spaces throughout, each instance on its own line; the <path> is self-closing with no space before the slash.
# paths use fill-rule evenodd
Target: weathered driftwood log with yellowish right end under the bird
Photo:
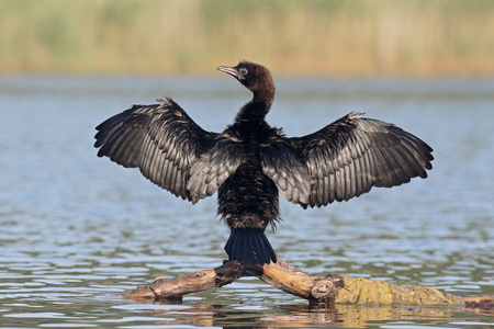
<path id="1" fill-rule="evenodd" d="M 125 295 L 133 299 L 181 299 L 186 294 L 221 287 L 242 276 L 257 276 L 277 288 L 314 303 L 494 309 L 494 296 L 461 298 L 423 286 L 397 286 L 382 281 L 338 274 L 314 275 L 281 259 L 278 259 L 277 263 L 262 266 L 226 261 L 220 268 L 182 277 L 171 280 L 157 277 L 153 281 L 153 286 L 138 287 Z"/>

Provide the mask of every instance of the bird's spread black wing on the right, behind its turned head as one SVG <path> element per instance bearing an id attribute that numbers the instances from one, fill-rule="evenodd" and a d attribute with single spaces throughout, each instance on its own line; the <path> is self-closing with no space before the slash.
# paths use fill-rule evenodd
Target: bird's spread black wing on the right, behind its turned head
<path id="1" fill-rule="evenodd" d="M 369 192 L 372 186 L 391 188 L 407 183 L 412 178 L 426 178 L 433 168 L 433 149 L 414 135 L 382 121 L 363 118 L 350 113 L 321 131 L 294 138 L 284 152 L 288 161 L 303 163 L 306 175 L 290 170 L 287 160 L 270 159 L 265 171 L 289 201 L 303 207 L 323 206 L 334 201 L 348 201 Z M 287 156 L 289 155 L 289 156 Z M 297 169 L 299 170 L 299 169 Z M 300 171 L 300 170 L 299 170 Z M 294 197 L 304 189 L 285 184 L 284 177 L 301 177 L 308 193 Z"/>

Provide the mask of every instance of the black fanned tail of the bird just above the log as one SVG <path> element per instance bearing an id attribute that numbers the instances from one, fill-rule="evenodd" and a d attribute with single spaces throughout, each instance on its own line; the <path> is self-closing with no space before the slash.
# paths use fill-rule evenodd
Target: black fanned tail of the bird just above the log
<path id="1" fill-rule="evenodd" d="M 277 262 L 277 254 L 260 228 L 233 229 L 225 251 L 231 261 L 237 260 L 240 263 L 262 265 Z"/>

